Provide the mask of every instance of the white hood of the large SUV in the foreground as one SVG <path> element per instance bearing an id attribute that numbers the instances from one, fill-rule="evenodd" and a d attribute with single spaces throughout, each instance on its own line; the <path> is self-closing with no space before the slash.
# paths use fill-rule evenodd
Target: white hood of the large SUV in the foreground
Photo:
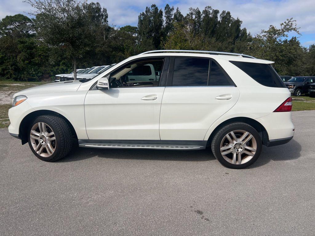
<path id="1" fill-rule="evenodd" d="M 15 93 L 13 97 L 18 95 L 27 96 L 41 93 L 74 92 L 78 90 L 81 84 L 82 83 L 78 80 L 44 84 L 21 90 L 20 92 Z"/>

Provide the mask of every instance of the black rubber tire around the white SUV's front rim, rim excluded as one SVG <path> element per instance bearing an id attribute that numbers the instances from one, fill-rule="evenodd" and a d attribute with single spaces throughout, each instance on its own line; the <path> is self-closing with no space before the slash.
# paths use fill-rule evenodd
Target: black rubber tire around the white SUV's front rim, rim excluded
<path id="1" fill-rule="evenodd" d="M 47 125 L 49 125 L 52 131 L 54 132 L 54 136 L 56 138 L 54 153 L 49 157 L 43 157 L 41 155 L 38 155 L 37 152 L 34 150 L 31 143 L 31 138 L 30 138 L 31 127 L 38 122 L 44 122 Z M 70 152 L 73 145 L 72 132 L 69 125 L 64 119 L 62 119 L 59 116 L 54 116 L 54 115 L 41 115 L 41 116 L 36 117 L 36 119 L 33 122 L 31 122 L 28 128 L 27 136 L 28 136 L 28 144 L 32 152 L 34 153 L 34 155 L 38 159 L 43 160 L 43 161 L 48 161 L 48 162 L 53 162 L 53 161 L 56 161 L 65 157 Z"/>

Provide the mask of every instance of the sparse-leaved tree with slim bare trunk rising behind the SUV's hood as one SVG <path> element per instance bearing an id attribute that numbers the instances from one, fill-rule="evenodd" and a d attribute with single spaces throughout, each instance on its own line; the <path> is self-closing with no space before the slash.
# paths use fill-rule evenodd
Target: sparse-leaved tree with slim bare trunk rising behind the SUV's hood
<path id="1" fill-rule="evenodd" d="M 26 0 L 35 9 L 37 42 L 58 48 L 72 59 L 74 79 L 77 62 L 95 45 L 100 29 L 106 26 L 106 11 L 100 4 L 75 0 Z M 101 20 L 100 20 L 101 19 Z"/>

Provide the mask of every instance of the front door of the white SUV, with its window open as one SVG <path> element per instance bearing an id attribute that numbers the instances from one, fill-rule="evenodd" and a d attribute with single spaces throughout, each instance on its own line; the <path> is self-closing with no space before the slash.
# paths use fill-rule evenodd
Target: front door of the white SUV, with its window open
<path id="1" fill-rule="evenodd" d="M 163 66 L 162 82 L 127 81 L 129 71 L 152 60 Z M 169 58 L 132 61 L 106 76 L 109 90 L 96 86 L 89 90 L 84 102 L 89 139 L 160 140 L 159 117 L 168 65 Z"/>

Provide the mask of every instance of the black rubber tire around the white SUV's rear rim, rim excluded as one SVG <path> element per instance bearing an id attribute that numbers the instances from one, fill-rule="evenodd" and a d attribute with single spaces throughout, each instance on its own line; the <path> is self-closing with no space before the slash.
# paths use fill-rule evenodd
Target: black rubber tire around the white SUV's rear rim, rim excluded
<path id="1" fill-rule="evenodd" d="M 256 153 L 255 155 L 246 163 L 244 164 L 232 164 L 230 162 L 228 162 L 227 160 L 224 159 L 224 157 L 221 155 L 221 151 L 220 151 L 220 145 L 221 145 L 221 141 L 223 140 L 223 138 L 226 136 L 226 134 L 235 131 L 235 130 L 244 130 L 247 131 L 249 133 L 251 133 L 257 143 L 257 148 L 256 148 Z M 252 165 L 260 156 L 261 154 L 261 149 L 262 149 L 262 141 L 261 141 L 261 137 L 259 135 L 259 133 L 250 125 L 243 123 L 243 122 L 235 122 L 235 123 L 231 123 L 228 124 L 224 127 L 222 127 L 213 137 L 212 142 L 211 142 L 211 150 L 213 152 L 213 155 L 215 156 L 215 158 L 223 165 L 226 166 L 228 168 L 232 168 L 232 169 L 242 169 L 245 167 L 248 167 L 250 165 Z"/>

